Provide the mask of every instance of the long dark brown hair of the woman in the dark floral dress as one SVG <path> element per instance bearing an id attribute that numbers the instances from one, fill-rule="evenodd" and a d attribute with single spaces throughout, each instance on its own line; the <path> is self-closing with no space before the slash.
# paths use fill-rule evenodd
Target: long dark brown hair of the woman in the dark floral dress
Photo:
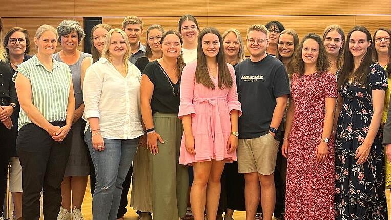
<path id="1" fill-rule="evenodd" d="M 351 39 L 351 35 L 354 31 L 361 31 L 366 35 L 366 40 L 370 43 L 369 47 L 366 51 L 366 54 L 361 60 L 360 66 L 354 71 L 354 60 L 353 55 L 349 48 L 349 42 Z M 344 50 L 344 58 L 343 58 L 343 66 L 341 71 L 338 73 L 337 85 L 338 90 L 341 89 L 342 85 L 352 79 L 353 82 L 359 83 L 361 86 L 367 86 L 368 83 L 368 71 L 369 65 L 373 63 L 373 50 L 374 43 L 371 41 L 371 33 L 369 33 L 368 29 L 364 26 L 354 26 L 352 30 L 347 34 L 346 44 L 343 48 Z"/>

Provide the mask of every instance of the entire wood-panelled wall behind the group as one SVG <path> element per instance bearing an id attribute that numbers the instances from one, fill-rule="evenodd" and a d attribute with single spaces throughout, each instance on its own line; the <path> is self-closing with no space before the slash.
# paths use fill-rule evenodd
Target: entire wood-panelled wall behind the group
<path id="1" fill-rule="evenodd" d="M 161 24 L 164 29 L 177 30 L 179 17 L 194 15 L 201 27 L 213 26 L 221 32 L 236 28 L 245 38 L 246 28 L 254 23 L 265 24 L 277 19 L 285 28 L 293 28 L 303 37 L 308 32 L 323 34 L 330 24 L 342 26 L 345 33 L 354 25 L 364 25 L 373 32 L 378 27 L 391 28 L 389 0 L 379 0 L 378 6 L 365 7 L 364 0 L 32 0 L 15 5 L 13 0 L 0 0 L 0 17 L 6 31 L 14 26 L 26 28 L 31 43 L 37 27 L 50 24 L 54 27 L 63 19 L 102 17 L 103 22 L 121 28 L 122 20 L 136 15 L 145 22 L 145 29 Z M 145 43 L 145 35 L 141 39 Z M 57 46 L 57 51 L 61 46 Z M 80 45 L 79 49 L 83 49 Z M 35 53 L 32 46 L 31 53 Z"/>

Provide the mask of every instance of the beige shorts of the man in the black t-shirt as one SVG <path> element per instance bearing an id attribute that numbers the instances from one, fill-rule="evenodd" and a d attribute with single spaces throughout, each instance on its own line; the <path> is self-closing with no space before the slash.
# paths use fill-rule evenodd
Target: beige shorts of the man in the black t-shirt
<path id="1" fill-rule="evenodd" d="M 239 173 L 273 174 L 279 143 L 270 133 L 253 139 L 239 139 L 236 150 Z"/>

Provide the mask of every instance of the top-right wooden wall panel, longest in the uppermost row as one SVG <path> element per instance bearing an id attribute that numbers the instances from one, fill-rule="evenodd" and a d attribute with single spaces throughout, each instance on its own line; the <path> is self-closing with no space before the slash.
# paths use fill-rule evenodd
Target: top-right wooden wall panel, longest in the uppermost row
<path id="1" fill-rule="evenodd" d="M 389 0 L 379 0 L 371 7 L 366 0 L 213 0 L 208 2 L 208 16 L 291 16 L 390 14 Z"/>

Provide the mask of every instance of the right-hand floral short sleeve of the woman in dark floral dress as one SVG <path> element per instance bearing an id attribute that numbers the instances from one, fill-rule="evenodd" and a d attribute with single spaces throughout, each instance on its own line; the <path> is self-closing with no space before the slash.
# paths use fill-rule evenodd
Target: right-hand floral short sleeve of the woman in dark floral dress
<path id="1" fill-rule="evenodd" d="M 369 66 L 368 83 L 371 90 L 387 90 L 388 82 L 385 70 L 379 64 Z"/>

